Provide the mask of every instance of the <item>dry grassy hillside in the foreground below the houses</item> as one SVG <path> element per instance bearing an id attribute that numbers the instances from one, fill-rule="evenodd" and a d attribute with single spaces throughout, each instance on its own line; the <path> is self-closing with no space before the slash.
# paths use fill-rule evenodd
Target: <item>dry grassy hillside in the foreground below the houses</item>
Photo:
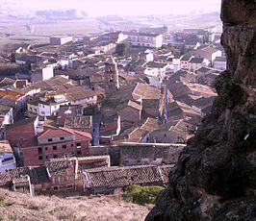
<path id="1" fill-rule="evenodd" d="M 29 197 L 0 189 L 0 220 L 141 221 L 149 207 L 120 201 L 115 196 Z"/>

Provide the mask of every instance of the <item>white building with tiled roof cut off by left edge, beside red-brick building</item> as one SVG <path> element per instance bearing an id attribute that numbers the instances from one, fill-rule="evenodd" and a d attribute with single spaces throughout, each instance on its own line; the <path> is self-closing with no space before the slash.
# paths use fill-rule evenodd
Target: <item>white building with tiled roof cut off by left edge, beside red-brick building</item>
<path id="1" fill-rule="evenodd" d="M 16 168 L 12 147 L 7 140 L 0 141 L 0 172 Z"/>

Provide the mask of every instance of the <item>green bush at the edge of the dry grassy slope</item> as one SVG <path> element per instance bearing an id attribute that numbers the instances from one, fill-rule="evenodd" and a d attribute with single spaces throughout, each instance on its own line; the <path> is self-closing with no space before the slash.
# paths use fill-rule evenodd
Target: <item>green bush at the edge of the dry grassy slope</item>
<path id="1" fill-rule="evenodd" d="M 154 204 L 159 193 L 164 189 L 162 186 L 140 186 L 133 184 L 125 188 L 122 198 L 125 201 L 139 205 Z"/>

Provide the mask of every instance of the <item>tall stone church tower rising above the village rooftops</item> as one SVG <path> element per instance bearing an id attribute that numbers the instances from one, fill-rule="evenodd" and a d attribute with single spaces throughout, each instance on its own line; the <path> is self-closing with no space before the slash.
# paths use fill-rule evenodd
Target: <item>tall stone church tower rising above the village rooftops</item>
<path id="1" fill-rule="evenodd" d="M 116 90 L 119 87 L 117 63 L 113 57 L 105 62 L 105 85 L 110 90 Z"/>

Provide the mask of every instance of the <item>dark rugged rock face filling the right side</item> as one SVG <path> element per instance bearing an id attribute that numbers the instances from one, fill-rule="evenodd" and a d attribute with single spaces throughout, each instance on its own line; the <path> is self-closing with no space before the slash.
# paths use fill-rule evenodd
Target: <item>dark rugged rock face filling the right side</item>
<path id="1" fill-rule="evenodd" d="M 222 0 L 218 98 L 146 221 L 256 220 L 256 1 Z"/>

